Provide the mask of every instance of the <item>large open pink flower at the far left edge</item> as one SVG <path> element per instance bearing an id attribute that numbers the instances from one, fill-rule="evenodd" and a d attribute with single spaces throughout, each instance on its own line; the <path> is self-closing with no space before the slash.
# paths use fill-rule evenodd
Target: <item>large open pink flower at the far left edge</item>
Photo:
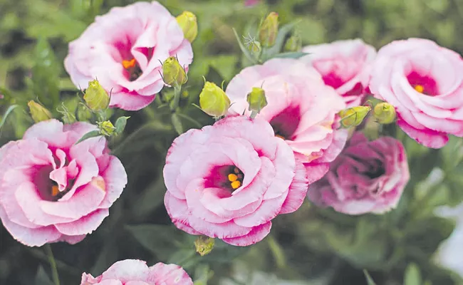
<path id="1" fill-rule="evenodd" d="M 36 123 L 0 148 L 0 218 L 19 242 L 80 242 L 109 214 L 127 183 L 105 138 L 75 143 L 89 123 Z"/>

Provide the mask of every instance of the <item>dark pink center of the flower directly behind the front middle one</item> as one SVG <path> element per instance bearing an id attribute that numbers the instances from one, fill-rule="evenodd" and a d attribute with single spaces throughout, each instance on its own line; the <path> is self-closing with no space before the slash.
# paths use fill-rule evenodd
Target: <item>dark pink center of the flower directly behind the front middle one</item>
<path id="1" fill-rule="evenodd" d="M 293 140 L 293 134 L 300 122 L 301 110 L 299 106 L 288 106 L 270 120 L 270 125 L 274 128 L 277 137 L 283 140 Z"/>

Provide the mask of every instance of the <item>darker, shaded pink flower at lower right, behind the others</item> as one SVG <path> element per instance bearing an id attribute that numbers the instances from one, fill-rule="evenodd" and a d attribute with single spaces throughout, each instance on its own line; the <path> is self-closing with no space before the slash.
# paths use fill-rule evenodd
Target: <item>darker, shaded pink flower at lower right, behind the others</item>
<path id="1" fill-rule="evenodd" d="M 409 179 L 400 141 L 382 137 L 370 142 L 358 132 L 325 177 L 311 185 L 308 197 L 345 214 L 380 214 L 397 206 Z"/>

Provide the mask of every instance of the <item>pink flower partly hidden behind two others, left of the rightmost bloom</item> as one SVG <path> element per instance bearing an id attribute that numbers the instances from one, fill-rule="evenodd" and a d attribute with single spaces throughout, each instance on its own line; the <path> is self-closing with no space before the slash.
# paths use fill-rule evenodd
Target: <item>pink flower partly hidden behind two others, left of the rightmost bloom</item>
<path id="1" fill-rule="evenodd" d="M 358 106 L 365 97 L 370 64 L 375 58 L 373 46 L 359 38 L 333 41 L 302 48 L 310 55 L 302 58 L 323 76 L 323 81 L 342 95 L 348 107 Z"/>

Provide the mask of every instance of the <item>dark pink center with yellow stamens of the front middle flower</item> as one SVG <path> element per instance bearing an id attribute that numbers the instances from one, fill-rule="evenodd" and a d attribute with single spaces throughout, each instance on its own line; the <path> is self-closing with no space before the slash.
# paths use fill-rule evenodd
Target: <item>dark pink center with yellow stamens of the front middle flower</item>
<path id="1" fill-rule="evenodd" d="M 234 165 L 223 165 L 214 167 L 211 175 L 206 178 L 204 187 L 216 187 L 234 192 L 243 185 L 244 174 Z"/>

